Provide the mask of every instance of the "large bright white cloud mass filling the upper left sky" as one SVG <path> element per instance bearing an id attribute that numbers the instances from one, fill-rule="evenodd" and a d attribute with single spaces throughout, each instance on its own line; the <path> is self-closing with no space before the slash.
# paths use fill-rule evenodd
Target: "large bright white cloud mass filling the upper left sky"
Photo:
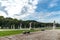
<path id="1" fill-rule="evenodd" d="M 9 17 L 13 18 L 20 18 L 23 19 L 24 17 L 27 17 L 34 13 L 36 9 L 36 5 L 38 4 L 38 0 L 0 0 L 2 3 L 2 6 L 6 6 L 6 10 L 8 12 Z M 31 4 L 29 4 L 30 2 Z M 23 7 L 27 7 L 26 13 L 22 14 L 21 11 Z M 20 16 L 16 16 L 15 14 L 22 14 Z"/>

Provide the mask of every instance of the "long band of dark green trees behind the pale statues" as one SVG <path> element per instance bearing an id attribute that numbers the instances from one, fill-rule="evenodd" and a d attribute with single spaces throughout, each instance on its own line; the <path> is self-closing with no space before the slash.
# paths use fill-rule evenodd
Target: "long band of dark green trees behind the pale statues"
<path id="1" fill-rule="evenodd" d="M 18 29 L 20 26 L 22 28 L 29 28 L 29 23 L 32 22 L 32 28 L 40 28 L 40 27 L 52 27 L 53 23 L 42 23 L 42 22 L 37 22 L 35 20 L 18 20 L 18 19 L 13 19 L 10 17 L 4 18 L 3 16 L 0 16 L 0 27 L 1 28 L 9 28 L 11 29 L 12 26 L 15 27 L 15 29 Z M 56 24 L 57 27 L 60 27 L 60 24 Z"/>

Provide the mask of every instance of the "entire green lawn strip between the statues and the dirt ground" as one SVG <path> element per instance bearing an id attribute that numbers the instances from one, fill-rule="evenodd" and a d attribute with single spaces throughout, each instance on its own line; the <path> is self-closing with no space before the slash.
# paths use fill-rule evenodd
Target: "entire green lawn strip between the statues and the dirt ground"
<path id="1" fill-rule="evenodd" d="M 16 34 L 22 34 L 23 31 L 30 31 L 30 32 L 36 32 L 36 31 L 40 31 L 42 28 L 38 28 L 38 30 L 16 30 L 16 29 L 0 29 L 0 37 L 3 36 L 10 36 L 10 35 L 16 35 Z M 44 28 L 45 30 L 51 30 L 52 28 Z"/>

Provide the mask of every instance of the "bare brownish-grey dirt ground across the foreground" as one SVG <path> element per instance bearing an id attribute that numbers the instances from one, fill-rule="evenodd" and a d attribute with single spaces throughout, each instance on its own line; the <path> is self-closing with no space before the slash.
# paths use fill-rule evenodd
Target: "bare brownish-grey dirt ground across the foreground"
<path id="1" fill-rule="evenodd" d="M 31 34 L 0 37 L 0 40 L 60 40 L 60 30 L 46 30 Z"/>

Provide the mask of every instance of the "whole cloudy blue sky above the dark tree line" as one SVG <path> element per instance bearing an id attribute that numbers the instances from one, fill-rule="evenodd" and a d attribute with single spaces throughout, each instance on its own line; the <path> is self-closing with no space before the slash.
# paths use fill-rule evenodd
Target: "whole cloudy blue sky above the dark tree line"
<path id="1" fill-rule="evenodd" d="M 60 0 L 0 0 L 0 16 L 60 23 Z"/>

